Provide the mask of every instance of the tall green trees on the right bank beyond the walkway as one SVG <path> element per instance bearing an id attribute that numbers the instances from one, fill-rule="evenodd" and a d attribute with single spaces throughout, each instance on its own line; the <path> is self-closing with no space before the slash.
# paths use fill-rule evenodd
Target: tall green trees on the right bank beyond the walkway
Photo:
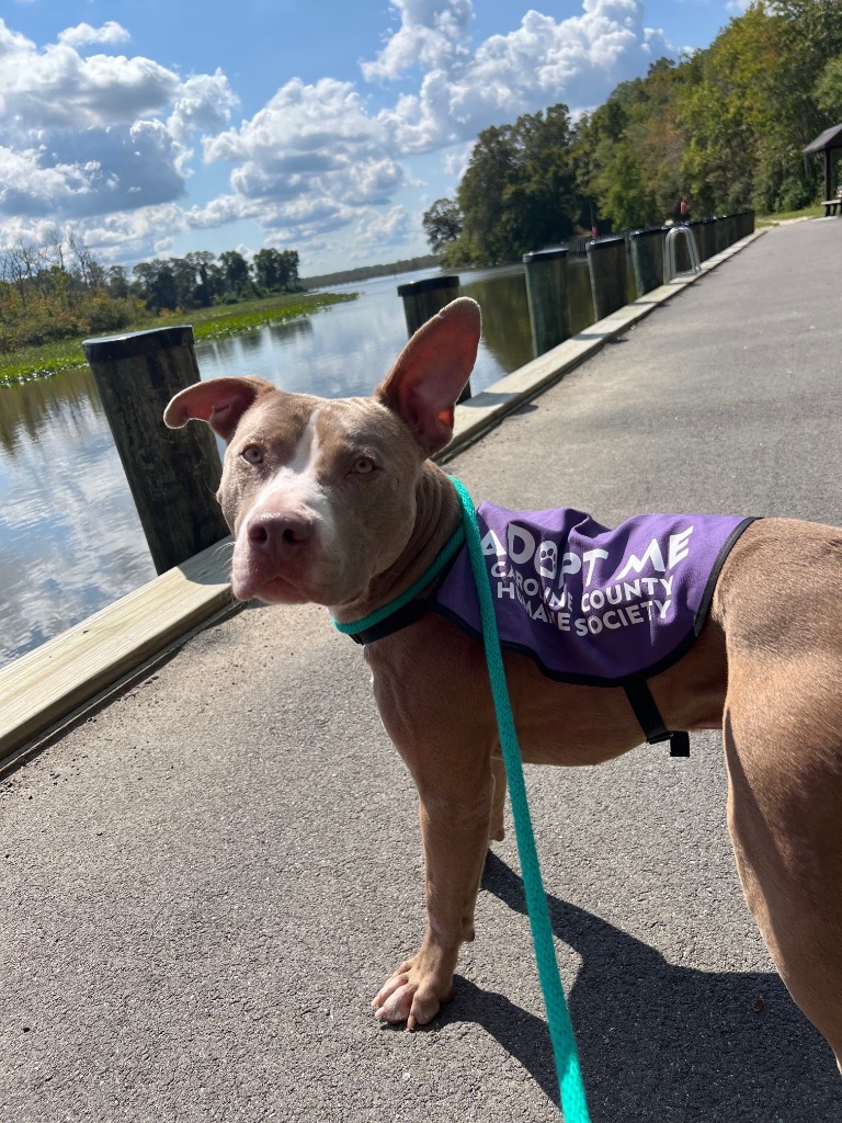
<path id="1" fill-rule="evenodd" d="M 558 103 L 484 129 L 424 230 L 454 267 L 657 225 L 681 197 L 698 217 L 797 210 L 823 192 L 802 149 L 841 120 L 842 0 L 757 0 L 575 122 Z"/>

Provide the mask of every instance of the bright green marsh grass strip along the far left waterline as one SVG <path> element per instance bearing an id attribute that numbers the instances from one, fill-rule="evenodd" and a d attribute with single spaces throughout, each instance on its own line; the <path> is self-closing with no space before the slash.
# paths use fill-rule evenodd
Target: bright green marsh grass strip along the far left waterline
<path id="1" fill-rule="evenodd" d="M 277 320 L 289 320 L 296 316 L 311 316 L 331 304 L 356 300 L 356 293 L 291 293 L 285 296 L 269 296 L 239 304 L 195 309 L 190 312 L 167 312 L 149 317 L 120 331 L 146 331 L 171 323 L 192 323 L 196 341 L 202 339 L 226 339 L 241 331 L 251 331 Z M 42 347 L 21 347 L 15 351 L 0 354 L 0 386 L 11 383 L 47 378 L 65 371 L 85 366 L 81 339 L 62 339 Z"/>

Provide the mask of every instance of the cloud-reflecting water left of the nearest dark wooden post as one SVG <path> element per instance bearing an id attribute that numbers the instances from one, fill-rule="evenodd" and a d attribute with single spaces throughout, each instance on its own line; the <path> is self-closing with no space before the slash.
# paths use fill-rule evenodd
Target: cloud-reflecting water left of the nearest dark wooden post
<path id="1" fill-rule="evenodd" d="M 155 576 L 90 371 L 0 392 L 0 665 Z"/>

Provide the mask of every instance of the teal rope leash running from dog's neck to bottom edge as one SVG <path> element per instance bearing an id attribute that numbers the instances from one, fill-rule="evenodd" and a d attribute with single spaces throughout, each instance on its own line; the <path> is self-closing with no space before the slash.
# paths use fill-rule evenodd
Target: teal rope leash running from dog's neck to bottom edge
<path id="1" fill-rule="evenodd" d="M 552 943 L 552 928 L 550 926 L 547 894 L 544 893 L 541 879 L 541 867 L 538 861 L 536 839 L 532 832 L 532 820 L 529 814 L 521 752 L 518 745 L 518 733 L 514 728 L 509 687 L 506 686 L 503 654 L 500 648 L 500 636 L 497 633 L 497 621 L 494 615 L 494 603 L 488 585 L 488 574 L 483 559 L 483 547 L 479 540 L 476 512 L 465 486 L 452 476 L 451 480 L 461 501 L 463 524 L 468 542 L 470 568 L 474 574 L 477 596 L 479 597 L 485 658 L 488 664 L 488 677 L 491 678 L 492 694 L 494 695 L 494 709 L 497 714 L 500 743 L 503 750 L 506 779 L 509 780 L 509 795 L 512 801 L 514 833 L 518 839 L 523 889 L 527 896 L 529 922 L 532 928 L 532 942 L 534 943 L 536 959 L 538 961 L 538 977 L 541 982 L 543 1002 L 547 1007 L 547 1023 L 550 1030 L 552 1051 L 556 1057 L 561 1111 L 564 1112 L 566 1123 L 589 1123 L 591 1116 L 588 1115 L 587 1102 L 585 1099 L 585 1085 L 582 1080 L 576 1039 L 573 1034 L 570 1014 L 558 974 L 558 961 Z"/>

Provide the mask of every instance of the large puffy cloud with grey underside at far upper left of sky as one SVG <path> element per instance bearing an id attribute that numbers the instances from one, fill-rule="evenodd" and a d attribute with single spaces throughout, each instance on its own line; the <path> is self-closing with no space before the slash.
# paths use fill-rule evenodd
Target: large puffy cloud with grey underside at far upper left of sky
<path id="1" fill-rule="evenodd" d="M 38 48 L 0 20 L 0 217 L 73 221 L 185 195 L 192 138 L 225 128 L 237 99 L 219 70 L 182 81 L 149 58 L 77 49 L 126 38 L 113 21 L 80 24 Z"/>

